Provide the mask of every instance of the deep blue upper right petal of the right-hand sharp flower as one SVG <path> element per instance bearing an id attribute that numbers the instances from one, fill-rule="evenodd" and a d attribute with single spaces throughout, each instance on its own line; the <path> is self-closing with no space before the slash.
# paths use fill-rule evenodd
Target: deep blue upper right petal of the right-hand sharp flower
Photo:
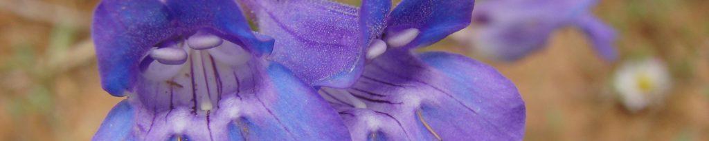
<path id="1" fill-rule="evenodd" d="M 473 0 L 403 0 L 389 16 L 385 34 L 420 30 L 403 48 L 426 47 L 470 25 Z"/>

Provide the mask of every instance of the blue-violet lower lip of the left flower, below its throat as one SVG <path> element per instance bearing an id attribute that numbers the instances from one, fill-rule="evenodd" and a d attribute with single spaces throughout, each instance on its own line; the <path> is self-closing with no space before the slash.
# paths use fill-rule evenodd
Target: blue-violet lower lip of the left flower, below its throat
<path id="1" fill-rule="evenodd" d="M 143 82 L 155 92 L 119 103 L 94 140 L 350 140 L 337 113 L 309 85 L 278 63 L 264 63 L 214 72 L 240 86 L 217 89 L 224 93 L 206 112 L 180 100 L 190 94 L 173 93 L 189 85 Z"/>

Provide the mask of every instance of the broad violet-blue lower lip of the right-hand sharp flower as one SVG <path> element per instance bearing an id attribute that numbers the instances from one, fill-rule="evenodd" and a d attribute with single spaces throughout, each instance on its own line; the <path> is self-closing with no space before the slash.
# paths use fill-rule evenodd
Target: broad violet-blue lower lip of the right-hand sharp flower
<path id="1" fill-rule="evenodd" d="M 513 83 L 457 54 L 390 50 L 355 85 L 333 91 L 321 90 L 325 99 L 340 98 L 330 102 L 353 140 L 522 140 L 524 134 L 525 106 Z"/>

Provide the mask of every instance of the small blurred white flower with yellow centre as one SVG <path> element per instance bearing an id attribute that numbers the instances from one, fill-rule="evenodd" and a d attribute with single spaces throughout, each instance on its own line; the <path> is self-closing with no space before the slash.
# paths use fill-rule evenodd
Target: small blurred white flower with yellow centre
<path id="1" fill-rule="evenodd" d="M 625 108 L 632 112 L 661 102 L 671 87 L 665 64 L 652 57 L 626 61 L 614 77 L 615 90 L 620 94 Z"/>

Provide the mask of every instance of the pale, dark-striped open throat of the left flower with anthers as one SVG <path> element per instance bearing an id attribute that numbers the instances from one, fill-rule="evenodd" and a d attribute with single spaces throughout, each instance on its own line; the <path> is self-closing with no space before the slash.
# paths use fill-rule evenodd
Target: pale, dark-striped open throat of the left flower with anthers
<path id="1" fill-rule="evenodd" d="M 155 47 L 141 63 L 135 87 L 140 99 L 155 109 L 191 107 L 195 112 L 216 108 L 222 94 L 238 91 L 239 70 L 252 55 L 238 44 L 208 32 Z M 242 76 L 243 77 L 243 76 Z"/>

